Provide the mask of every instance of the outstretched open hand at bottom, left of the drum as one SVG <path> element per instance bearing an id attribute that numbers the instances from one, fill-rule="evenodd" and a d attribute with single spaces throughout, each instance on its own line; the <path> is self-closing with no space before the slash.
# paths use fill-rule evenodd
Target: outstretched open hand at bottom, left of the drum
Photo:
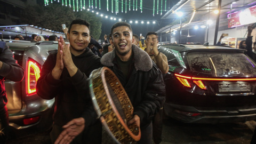
<path id="1" fill-rule="evenodd" d="M 64 130 L 60 133 L 54 144 L 70 143 L 78 134 L 84 130 L 85 120 L 82 117 L 75 118 L 62 127 Z"/>

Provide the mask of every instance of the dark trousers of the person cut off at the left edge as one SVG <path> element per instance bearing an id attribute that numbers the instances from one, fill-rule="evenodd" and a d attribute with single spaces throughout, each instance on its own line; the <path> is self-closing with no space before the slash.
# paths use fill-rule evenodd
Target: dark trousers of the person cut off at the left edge
<path id="1" fill-rule="evenodd" d="M 0 101 L 2 98 L 0 98 Z M 0 108 L 0 143 L 6 143 L 9 133 L 9 117 L 6 106 Z"/>

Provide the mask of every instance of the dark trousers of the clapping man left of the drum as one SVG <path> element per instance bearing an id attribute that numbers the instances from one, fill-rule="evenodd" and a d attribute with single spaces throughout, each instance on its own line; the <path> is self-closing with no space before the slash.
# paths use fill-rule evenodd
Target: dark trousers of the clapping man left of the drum
<path id="1" fill-rule="evenodd" d="M 58 138 L 59 134 L 62 132 L 62 127 L 58 125 L 53 125 L 52 131 L 50 133 L 52 143 Z M 102 137 L 102 125 L 98 120 L 95 124 L 86 127 L 85 130 L 77 135 L 77 137 L 70 142 L 71 144 L 101 144 Z"/>

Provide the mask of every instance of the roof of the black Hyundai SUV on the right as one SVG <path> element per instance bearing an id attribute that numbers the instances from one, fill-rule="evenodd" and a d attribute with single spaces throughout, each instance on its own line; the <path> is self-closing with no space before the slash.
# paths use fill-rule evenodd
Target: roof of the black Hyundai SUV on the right
<path id="1" fill-rule="evenodd" d="M 244 53 L 246 50 L 234 49 L 228 46 L 218 46 L 218 45 L 195 45 L 195 44 L 166 44 L 158 46 L 159 49 L 172 49 L 178 52 L 185 51 L 228 51 L 228 52 L 241 52 Z"/>

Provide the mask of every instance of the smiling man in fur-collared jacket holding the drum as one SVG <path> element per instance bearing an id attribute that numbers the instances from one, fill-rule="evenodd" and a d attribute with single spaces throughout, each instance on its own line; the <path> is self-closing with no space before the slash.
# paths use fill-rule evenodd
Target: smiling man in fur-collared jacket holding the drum
<path id="1" fill-rule="evenodd" d="M 151 143 L 151 120 L 165 98 L 162 73 L 145 51 L 132 44 L 132 28 L 129 23 L 117 22 L 111 28 L 111 36 L 115 49 L 103 55 L 101 63 L 116 74 L 130 98 L 134 113 L 127 124 L 140 126 L 141 139 L 138 143 Z M 73 119 L 58 139 L 72 139 L 81 132 L 81 127 L 81 123 Z"/>

